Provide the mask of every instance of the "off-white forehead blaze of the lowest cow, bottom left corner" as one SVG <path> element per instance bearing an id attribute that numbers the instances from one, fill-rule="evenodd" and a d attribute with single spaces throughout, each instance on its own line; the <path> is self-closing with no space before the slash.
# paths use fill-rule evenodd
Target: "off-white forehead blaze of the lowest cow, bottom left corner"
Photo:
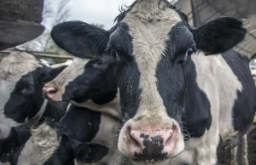
<path id="1" fill-rule="evenodd" d="M 43 165 L 60 146 L 61 139 L 58 138 L 56 130 L 47 124 L 32 129 L 31 133 L 31 138 L 20 152 L 18 165 Z"/>

